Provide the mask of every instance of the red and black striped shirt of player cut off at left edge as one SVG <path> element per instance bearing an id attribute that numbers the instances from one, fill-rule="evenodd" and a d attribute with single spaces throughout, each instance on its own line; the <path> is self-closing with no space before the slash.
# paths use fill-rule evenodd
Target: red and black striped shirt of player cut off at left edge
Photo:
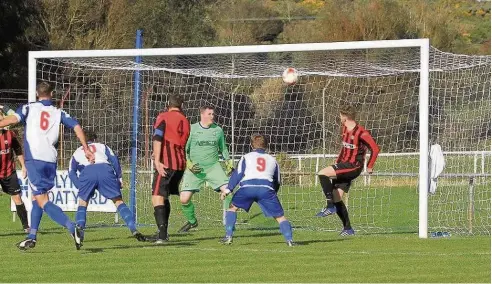
<path id="1" fill-rule="evenodd" d="M 11 130 L 0 130 L 0 179 L 9 177 L 15 171 L 15 155 L 22 155 L 19 140 Z"/>

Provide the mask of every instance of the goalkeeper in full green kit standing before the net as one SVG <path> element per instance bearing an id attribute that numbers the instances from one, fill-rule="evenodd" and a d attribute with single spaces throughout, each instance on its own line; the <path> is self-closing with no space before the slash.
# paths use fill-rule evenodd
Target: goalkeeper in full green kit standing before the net
<path id="1" fill-rule="evenodd" d="M 180 192 L 181 208 L 187 222 L 178 232 L 188 232 L 198 226 L 195 205 L 191 197 L 200 191 L 204 183 L 219 192 L 229 182 L 228 175 L 233 169 L 233 161 L 225 143 L 224 131 L 214 123 L 214 108 L 200 107 L 200 122 L 191 125 L 190 137 L 186 143 L 186 170 Z M 226 172 L 219 163 L 219 153 L 225 160 Z M 231 196 L 224 200 L 225 210 L 229 208 Z"/>

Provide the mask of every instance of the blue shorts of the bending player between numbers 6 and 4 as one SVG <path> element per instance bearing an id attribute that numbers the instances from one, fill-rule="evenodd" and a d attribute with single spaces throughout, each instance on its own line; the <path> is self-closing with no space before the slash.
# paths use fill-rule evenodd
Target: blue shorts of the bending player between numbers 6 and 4
<path id="1" fill-rule="evenodd" d="M 121 184 L 109 164 L 86 166 L 79 176 L 79 198 L 88 202 L 97 189 L 107 199 L 121 197 Z"/>

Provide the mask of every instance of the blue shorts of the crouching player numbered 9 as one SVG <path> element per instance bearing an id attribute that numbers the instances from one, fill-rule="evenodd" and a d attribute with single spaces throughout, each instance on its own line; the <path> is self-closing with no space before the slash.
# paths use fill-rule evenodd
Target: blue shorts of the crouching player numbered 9
<path id="1" fill-rule="evenodd" d="M 241 187 L 232 197 L 232 204 L 249 211 L 253 202 L 260 205 L 265 217 L 284 216 L 284 209 L 274 190 L 265 187 Z"/>

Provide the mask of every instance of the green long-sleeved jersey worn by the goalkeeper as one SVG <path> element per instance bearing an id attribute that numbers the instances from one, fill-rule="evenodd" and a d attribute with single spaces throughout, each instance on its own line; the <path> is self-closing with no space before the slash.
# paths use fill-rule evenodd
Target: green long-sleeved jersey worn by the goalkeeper
<path id="1" fill-rule="evenodd" d="M 222 128 L 215 123 L 208 128 L 201 126 L 200 122 L 192 124 L 186 142 L 186 158 L 206 168 L 219 161 L 219 153 L 225 160 L 229 160 Z"/>

